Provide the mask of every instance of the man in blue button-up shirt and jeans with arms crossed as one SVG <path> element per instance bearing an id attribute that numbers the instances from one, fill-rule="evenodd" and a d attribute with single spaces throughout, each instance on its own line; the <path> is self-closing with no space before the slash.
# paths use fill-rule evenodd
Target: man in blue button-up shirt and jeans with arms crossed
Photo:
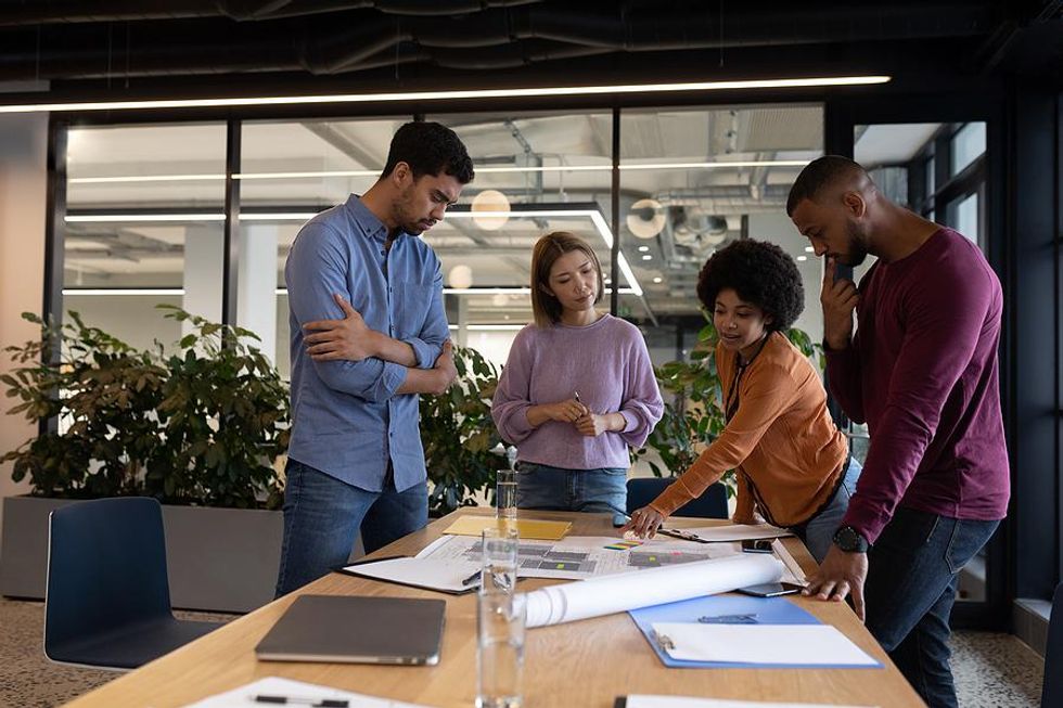
<path id="1" fill-rule="evenodd" d="M 453 131 L 406 124 L 376 183 L 310 219 L 292 245 L 278 595 L 343 565 L 359 530 L 372 552 L 427 522 L 418 394 L 444 392 L 457 371 L 439 259 L 418 236 L 472 179 Z"/>

